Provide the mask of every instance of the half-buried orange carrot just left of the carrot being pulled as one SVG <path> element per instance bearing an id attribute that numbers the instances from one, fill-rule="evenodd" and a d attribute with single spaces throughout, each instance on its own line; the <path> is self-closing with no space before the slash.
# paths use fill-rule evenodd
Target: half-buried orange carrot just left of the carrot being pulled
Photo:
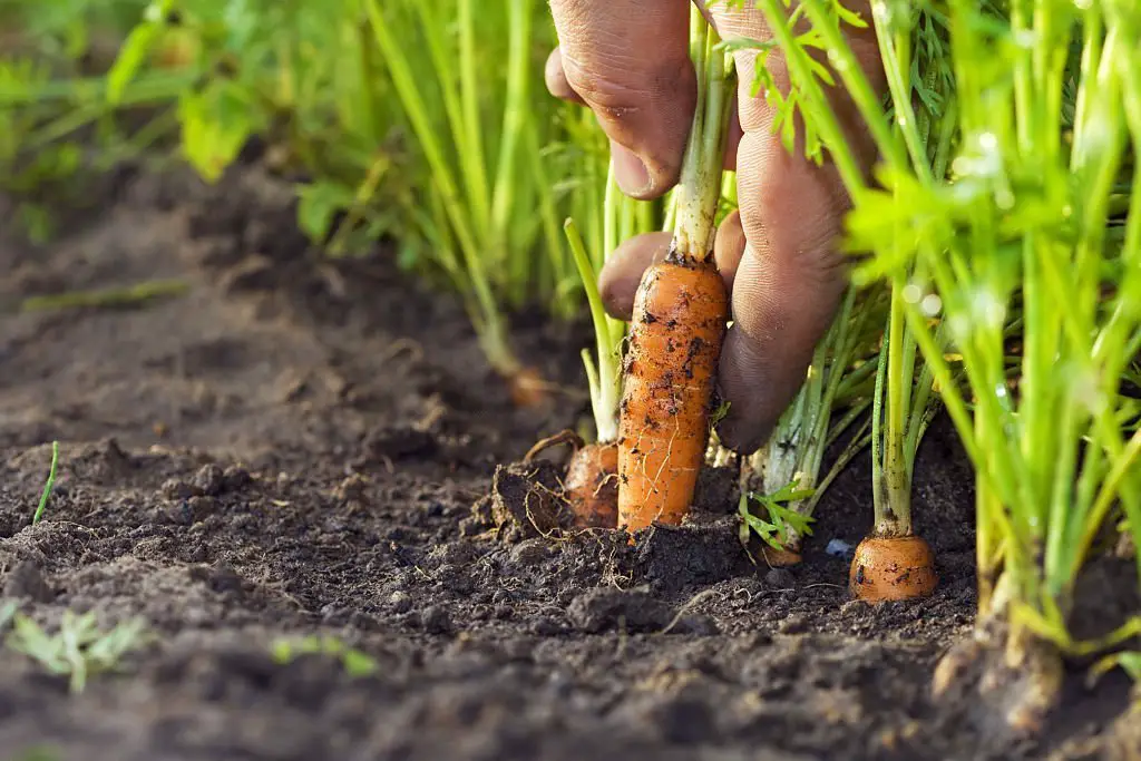
<path id="1" fill-rule="evenodd" d="M 563 499 L 570 508 L 576 528 L 615 528 L 618 524 L 618 447 L 612 443 L 584 444 L 570 430 L 536 443 L 524 458 L 531 462 L 540 452 L 569 444 L 574 453 L 563 481 Z"/>

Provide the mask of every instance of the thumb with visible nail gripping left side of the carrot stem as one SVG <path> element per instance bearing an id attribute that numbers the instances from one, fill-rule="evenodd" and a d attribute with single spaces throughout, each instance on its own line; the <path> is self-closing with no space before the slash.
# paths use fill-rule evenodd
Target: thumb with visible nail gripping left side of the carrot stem
<path id="1" fill-rule="evenodd" d="M 594 112 L 623 193 L 663 195 L 680 173 L 697 99 L 689 1 L 551 0 L 551 15 L 559 50 L 549 89 Z"/>

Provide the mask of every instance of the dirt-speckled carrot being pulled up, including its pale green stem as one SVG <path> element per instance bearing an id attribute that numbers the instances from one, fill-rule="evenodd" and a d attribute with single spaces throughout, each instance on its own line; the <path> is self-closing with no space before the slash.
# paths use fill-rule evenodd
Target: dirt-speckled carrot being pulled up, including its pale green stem
<path id="1" fill-rule="evenodd" d="M 678 524 L 689 511 L 728 319 L 712 248 L 735 72 L 696 9 L 690 29 L 699 94 L 674 200 L 673 243 L 665 261 L 642 276 L 623 367 L 618 523 L 629 532 Z"/>

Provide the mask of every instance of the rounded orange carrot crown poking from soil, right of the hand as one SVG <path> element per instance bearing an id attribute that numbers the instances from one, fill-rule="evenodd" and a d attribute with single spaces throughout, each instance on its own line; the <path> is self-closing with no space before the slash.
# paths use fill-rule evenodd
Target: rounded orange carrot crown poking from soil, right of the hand
<path id="1" fill-rule="evenodd" d="M 919 536 L 868 536 L 856 548 L 849 589 L 865 602 L 930 597 L 938 584 L 934 553 Z"/>

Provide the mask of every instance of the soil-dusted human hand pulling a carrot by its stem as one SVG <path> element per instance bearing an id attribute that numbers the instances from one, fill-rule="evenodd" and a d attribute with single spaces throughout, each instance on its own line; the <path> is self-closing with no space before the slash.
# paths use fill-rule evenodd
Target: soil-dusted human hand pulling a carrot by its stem
<path id="1" fill-rule="evenodd" d="M 703 1 L 703 0 L 699 0 Z M 849 42 L 873 87 L 885 91 L 867 2 L 853 10 L 868 22 Z M 768 39 L 760 10 L 705 2 L 723 39 Z M 620 187 L 636 199 L 664 195 L 678 180 L 697 97 L 689 59 L 687 0 L 551 0 L 559 48 L 547 63 L 547 86 L 563 99 L 590 106 L 610 140 Z M 730 124 L 728 169 L 737 171 L 739 212 L 718 230 L 714 257 L 731 294 L 733 325 L 718 373 L 729 411 L 721 442 L 750 453 L 764 444 L 804 380 L 817 342 L 845 286 L 836 241 L 850 201 L 835 169 L 790 153 L 772 132 L 775 111 L 752 97 L 755 51 L 736 54 L 737 107 Z M 776 86 L 788 91 L 784 59 L 768 58 Z M 865 169 L 875 151 L 842 87 L 833 111 Z M 624 242 L 599 277 L 612 316 L 630 319 L 642 273 L 665 257 L 669 233 Z"/>

